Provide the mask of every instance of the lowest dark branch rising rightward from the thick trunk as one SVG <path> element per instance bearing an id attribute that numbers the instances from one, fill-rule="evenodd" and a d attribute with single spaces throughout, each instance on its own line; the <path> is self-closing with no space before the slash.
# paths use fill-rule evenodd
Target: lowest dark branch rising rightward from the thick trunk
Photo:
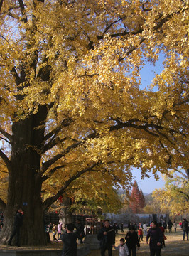
<path id="1" fill-rule="evenodd" d="M 61 196 L 63 194 L 63 192 L 65 191 L 65 189 L 68 188 L 68 186 L 70 186 L 70 183 L 72 183 L 72 181 L 75 181 L 75 179 L 79 178 L 82 174 L 85 174 L 87 171 L 92 170 L 95 166 L 97 166 L 97 164 L 99 164 L 99 163 L 94 163 L 91 166 L 89 166 L 81 171 L 77 171 L 77 173 L 75 175 L 73 175 L 72 177 L 70 177 L 68 181 L 65 181 L 64 186 L 62 186 L 62 188 L 60 188 L 60 190 L 58 191 L 58 193 L 55 194 L 55 196 L 47 198 L 43 202 L 44 210 L 47 209 L 56 200 L 58 200 L 59 196 Z"/>

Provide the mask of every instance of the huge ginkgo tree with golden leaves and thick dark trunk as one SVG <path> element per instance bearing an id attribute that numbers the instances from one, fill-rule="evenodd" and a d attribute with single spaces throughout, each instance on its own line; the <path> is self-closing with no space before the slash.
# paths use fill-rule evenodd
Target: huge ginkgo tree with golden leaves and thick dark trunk
<path id="1" fill-rule="evenodd" d="M 0 1 L 1 243 L 23 206 L 22 244 L 45 244 L 43 213 L 80 176 L 127 186 L 132 167 L 187 169 L 187 14 L 184 0 Z M 160 53 L 162 73 L 141 90 Z"/>

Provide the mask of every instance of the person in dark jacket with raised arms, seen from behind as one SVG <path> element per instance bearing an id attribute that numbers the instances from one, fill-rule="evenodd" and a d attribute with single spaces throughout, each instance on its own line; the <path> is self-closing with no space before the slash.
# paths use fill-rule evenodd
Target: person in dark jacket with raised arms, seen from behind
<path id="1" fill-rule="evenodd" d="M 80 232 L 73 232 L 74 225 L 69 223 L 66 225 L 66 233 L 61 235 L 63 241 L 63 255 L 62 256 L 77 256 L 77 238 Z"/>

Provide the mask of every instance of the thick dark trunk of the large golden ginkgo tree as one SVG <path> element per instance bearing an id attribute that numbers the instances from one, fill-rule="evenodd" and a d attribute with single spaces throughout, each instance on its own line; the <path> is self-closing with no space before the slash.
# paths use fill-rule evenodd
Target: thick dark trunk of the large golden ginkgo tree
<path id="1" fill-rule="evenodd" d="M 46 235 L 41 201 L 41 154 L 46 110 L 41 107 L 38 114 L 13 124 L 13 144 L 11 170 L 9 170 L 9 191 L 5 211 L 1 243 L 6 243 L 13 228 L 13 215 L 17 208 L 23 208 L 24 218 L 21 228 L 21 245 L 45 245 Z"/>

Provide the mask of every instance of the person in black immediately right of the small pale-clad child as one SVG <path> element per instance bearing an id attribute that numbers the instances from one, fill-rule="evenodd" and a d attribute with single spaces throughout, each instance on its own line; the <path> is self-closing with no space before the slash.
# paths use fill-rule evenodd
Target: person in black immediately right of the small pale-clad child
<path id="1" fill-rule="evenodd" d="M 136 246 L 140 247 L 139 238 L 133 225 L 129 226 L 129 232 L 126 234 L 126 245 L 129 249 L 129 256 L 136 256 Z"/>

